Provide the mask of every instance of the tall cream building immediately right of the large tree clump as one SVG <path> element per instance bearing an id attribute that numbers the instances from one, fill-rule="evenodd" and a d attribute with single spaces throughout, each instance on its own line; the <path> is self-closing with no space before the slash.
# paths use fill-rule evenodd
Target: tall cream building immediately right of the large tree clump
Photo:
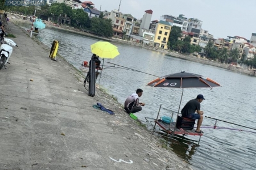
<path id="1" fill-rule="evenodd" d="M 117 10 L 111 11 L 108 18 L 112 20 L 114 36 L 122 38 L 123 31 L 125 28 L 125 16 L 123 16 L 122 12 L 118 12 Z"/>

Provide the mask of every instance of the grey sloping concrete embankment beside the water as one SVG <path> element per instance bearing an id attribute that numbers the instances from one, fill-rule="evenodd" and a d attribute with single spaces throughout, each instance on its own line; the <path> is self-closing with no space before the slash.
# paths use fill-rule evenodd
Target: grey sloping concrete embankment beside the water
<path id="1" fill-rule="evenodd" d="M 109 95 L 89 97 L 79 71 L 9 26 L 19 47 L 0 70 L 0 169 L 192 169 Z"/>

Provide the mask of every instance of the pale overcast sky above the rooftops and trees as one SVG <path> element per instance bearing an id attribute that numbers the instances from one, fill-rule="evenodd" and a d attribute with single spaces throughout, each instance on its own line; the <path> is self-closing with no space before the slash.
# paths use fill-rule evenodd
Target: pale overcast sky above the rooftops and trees
<path id="1" fill-rule="evenodd" d="M 83 2 L 83 1 L 82 1 Z M 101 11 L 118 10 L 120 0 L 92 0 Z M 164 14 L 203 21 L 203 29 L 217 38 L 241 36 L 250 40 L 256 33 L 256 0 L 122 0 L 120 12 L 141 19 L 152 10 L 152 20 Z"/>

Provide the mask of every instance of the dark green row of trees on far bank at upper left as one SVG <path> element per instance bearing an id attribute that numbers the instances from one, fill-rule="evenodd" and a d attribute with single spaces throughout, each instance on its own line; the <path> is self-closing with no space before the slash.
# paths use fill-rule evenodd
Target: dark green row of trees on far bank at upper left
<path id="1" fill-rule="evenodd" d="M 5 6 L 7 11 L 21 12 L 23 15 L 34 15 L 35 6 Z M 61 24 L 61 17 L 67 16 L 71 19 L 71 26 L 80 29 L 87 29 L 100 36 L 112 37 L 113 28 L 112 20 L 104 19 L 101 12 L 98 18 L 89 18 L 88 13 L 83 9 L 72 9 L 65 5 L 65 3 L 52 3 L 51 6 L 40 6 L 40 9 L 36 10 L 36 16 L 39 18 L 47 16 L 52 19 L 54 23 Z"/>

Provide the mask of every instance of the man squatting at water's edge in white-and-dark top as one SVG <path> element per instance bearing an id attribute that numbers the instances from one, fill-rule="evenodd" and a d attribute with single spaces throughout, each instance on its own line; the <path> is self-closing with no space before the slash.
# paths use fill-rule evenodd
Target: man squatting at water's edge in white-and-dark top
<path id="1" fill-rule="evenodd" d="M 141 97 L 143 94 L 143 90 L 141 88 L 138 88 L 136 93 L 131 94 L 127 99 L 125 100 L 125 111 L 127 113 L 136 113 L 142 110 L 142 106 L 144 106 L 144 103 L 139 103 L 139 97 Z"/>

